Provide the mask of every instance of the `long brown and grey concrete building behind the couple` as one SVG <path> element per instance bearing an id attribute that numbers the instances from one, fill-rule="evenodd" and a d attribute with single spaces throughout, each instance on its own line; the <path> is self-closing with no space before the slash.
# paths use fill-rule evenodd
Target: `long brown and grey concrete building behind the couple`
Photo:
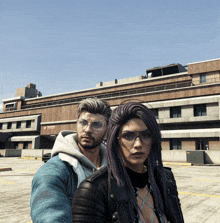
<path id="1" fill-rule="evenodd" d="M 52 148 L 61 130 L 76 130 L 78 102 L 93 96 L 112 108 L 143 101 L 160 125 L 163 150 L 220 151 L 220 59 L 156 67 L 143 76 L 44 97 L 33 84 L 16 89 L 15 98 L 3 100 L 0 149 Z"/>

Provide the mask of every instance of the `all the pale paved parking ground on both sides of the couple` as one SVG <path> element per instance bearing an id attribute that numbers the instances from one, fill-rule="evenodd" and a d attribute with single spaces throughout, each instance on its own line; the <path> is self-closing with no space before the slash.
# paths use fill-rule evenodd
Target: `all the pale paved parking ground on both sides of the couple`
<path id="1" fill-rule="evenodd" d="M 43 165 L 41 160 L 0 158 L 0 223 L 29 223 L 30 192 L 34 173 Z M 185 223 L 219 223 L 220 167 L 172 167 L 179 190 Z"/>

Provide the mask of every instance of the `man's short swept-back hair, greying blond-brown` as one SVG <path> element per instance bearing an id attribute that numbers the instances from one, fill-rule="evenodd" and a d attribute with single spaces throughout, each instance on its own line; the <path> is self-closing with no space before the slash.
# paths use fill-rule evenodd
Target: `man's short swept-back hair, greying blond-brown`
<path id="1" fill-rule="evenodd" d="M 79 118 L 82 112 L 89 112 L 93 114 L 100 114 L 103 115 L 108 123 L 109 117 L 111 115 L 111 108 L 108 102 L 94 98 L 86 98 L 82 100 L 77 108 L 77 116 Z"/>

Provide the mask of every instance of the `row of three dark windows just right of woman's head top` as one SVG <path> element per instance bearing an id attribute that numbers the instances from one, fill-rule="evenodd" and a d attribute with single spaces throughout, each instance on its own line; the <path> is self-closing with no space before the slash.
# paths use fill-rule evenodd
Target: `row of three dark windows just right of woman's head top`
<path id="1" fill-rule="evenodd" d="M 194 116 L 206 116 L 206 104 L 194 105 Z M 152 109 L 152 112 L 156 119 L 159 118 L 158 108 Z M 170 108 L 170 118 L 180 118 L 181 117 L 181 106 Z"/>

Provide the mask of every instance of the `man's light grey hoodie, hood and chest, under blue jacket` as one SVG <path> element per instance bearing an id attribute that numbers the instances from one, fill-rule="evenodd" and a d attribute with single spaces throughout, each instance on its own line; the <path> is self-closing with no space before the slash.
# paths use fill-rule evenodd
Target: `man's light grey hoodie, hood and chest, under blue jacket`
<path id="1" fill-rule="evenodd" d="M 96 166 L 81 153 L 77 144 L 77 133 L 74 131 L 61 131 L 59 133 L 51 156 L 53 157 L 57 154 L 59 154 L 61 160 L 68 162 L 78 175 L 77 187 L 85 178 L 97 170 Z M 103 144 L 101 144 L 100 156 L 101 167 L 106 166 L 106 148 Z"/>

